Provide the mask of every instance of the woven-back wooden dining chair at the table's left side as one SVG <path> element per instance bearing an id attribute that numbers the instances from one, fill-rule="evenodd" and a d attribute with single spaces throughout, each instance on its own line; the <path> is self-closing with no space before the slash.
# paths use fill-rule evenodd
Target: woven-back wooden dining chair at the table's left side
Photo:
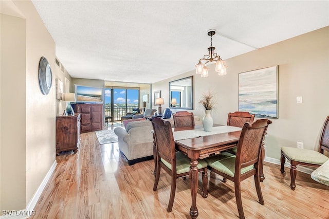
<path id="1" fill-rule="evenodd" d="M 190 159 L 182 154 L 176 152 L 175 141 L 173 137 L 172 127 L 169 121 L 164 121 L 159 117 L 152 117 L 152 126 L 156 145 L 156 175 L 153 186 L 153 191 L 156 191 L 161 168 L 171 175 L 171 190 L 167 211 L 171 212 L 176 192 L 177 178 L 186 177 L 190 175 Z M 198 159 L 198 172 L 202 172 L 203 194 L 206 198 L 208 196 L 208 176 L 207 176 L 207 162 Z"/>

